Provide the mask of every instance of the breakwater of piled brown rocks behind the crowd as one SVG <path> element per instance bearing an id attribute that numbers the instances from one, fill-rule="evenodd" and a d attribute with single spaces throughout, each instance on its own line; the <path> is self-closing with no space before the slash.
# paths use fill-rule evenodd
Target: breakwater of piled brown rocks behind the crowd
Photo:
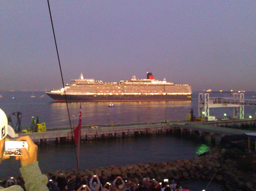
<path id="1" fill-rule="evenodd" d="M 148 176 L 159 181 L 164 178 L 186 181 L 203 179 L 218 182 L 227 190 L 256 190 L 256 157 L 237 149 L 213 149 L 191 160 L 137 163 L 125 166 L 98 167 L 80 171 L 82 177 L 101 174 L 106 179 L 113 175 L 142 180 Z M 75 175 L 77 171 L 56 171 Z M 48 173 L 49 174 L 49 173 Z"/>

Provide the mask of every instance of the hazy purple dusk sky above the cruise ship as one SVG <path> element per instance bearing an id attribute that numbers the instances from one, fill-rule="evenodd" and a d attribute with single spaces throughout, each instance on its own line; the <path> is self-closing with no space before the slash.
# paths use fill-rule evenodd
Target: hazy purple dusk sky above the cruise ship
<path id="1" fill-rule="evenodd" d="M 256 1 L 49 0 L 64 84 L 256 91 Z M 0 91 L 62 87 L 47 1 L 0 1 Z"/>

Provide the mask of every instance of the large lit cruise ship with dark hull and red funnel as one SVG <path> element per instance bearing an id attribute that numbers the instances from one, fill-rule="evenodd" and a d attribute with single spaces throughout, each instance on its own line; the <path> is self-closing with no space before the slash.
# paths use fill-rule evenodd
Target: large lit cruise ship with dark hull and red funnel
<path id="1" fill-rule="evenodd" d="M 173 101 L 191 100 L 191 86 L 173 84 L 155 80 L 152 73 L 147 72 L 147 79 L 132 79 L 120 82 L 103 82 L 94 79 L 80 78 L 60 90 L 45 92 L 55 102 L 83 101 Z M 65 99 L 66 94 L 66 99 Z"/>

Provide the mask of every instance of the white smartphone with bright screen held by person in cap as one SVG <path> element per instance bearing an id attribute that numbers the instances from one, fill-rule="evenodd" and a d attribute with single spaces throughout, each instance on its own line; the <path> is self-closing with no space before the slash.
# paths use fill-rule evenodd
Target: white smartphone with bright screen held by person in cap
<path id="1" fill-rule="evenodd" d="M 20 149 L 26 148 L 28 150 L 28 143 L 26 141 L 5 141 L 5 156 L 22 156 Z"/>

